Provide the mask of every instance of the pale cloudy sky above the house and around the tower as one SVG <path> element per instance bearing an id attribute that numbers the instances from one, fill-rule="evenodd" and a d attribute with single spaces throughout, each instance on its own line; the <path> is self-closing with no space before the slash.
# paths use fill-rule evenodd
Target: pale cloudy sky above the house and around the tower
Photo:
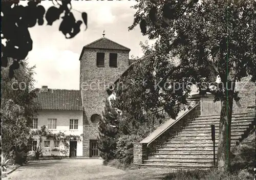
<path id="1" fill-rule="evenodd" d="M 27 2 L 22 2 L 26 5 Z M 36 25 L 29 28 L 33 40 L 33 49 L 27 58 L 29 65 L 35 65 L 35 87 L 47 85 L 48 88 L 79 89 L 79 56 L 83 46 L 105 37 L 130 48 L 132 55 L 142 57 L 140 41 L 148 40 L 142 36 L 140 28 L 128 31 L 132 25 L 136 10 L 131 6 L 135 1 L 72 1 L 72 10 L 76 20 L 81 19 L 80 12 L 88 14 L 88 29 L 84 24 L 81 31 L 72 39 L 66 39 L 58 30 L 61 19 L 47 26 Z M 42 1 L 41 5 L 47 10 L 52 2 Z M 79 12 L 78 12 L 79 11 Z M 149 41 L 151 43 L 151 41 Z"/>

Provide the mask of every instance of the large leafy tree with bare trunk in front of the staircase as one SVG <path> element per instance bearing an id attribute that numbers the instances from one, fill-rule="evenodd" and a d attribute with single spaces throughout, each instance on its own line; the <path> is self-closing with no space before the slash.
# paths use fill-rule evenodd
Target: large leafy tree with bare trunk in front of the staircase
<path id="1" fill-rule="evenodd" d="M 148 58 L 159 64 L 169 54 L 180 59 L 178 66 L 164 70 L 159 86 L 179 75 L 196 84 L 201 94 L 209 92 L 221 100 L 217 159 L 218 168 L 228 170 L 232 105 L 239 100 L 234 87 L 248 75 L 256 80 L 256 3 L 156 0 L 138 1 L 133 8 L 137 12 L 129 30 L 140 25 L 143 35 L 158 39 Z M 212 82 L 211 72 L 221 83 Z"/>

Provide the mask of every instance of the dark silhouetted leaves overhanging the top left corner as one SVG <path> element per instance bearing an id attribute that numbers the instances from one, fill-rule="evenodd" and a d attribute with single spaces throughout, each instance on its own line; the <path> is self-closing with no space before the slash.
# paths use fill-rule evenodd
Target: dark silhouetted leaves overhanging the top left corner
<path id="1" fill-rule="evenodd" d="M 19 60 L 25 59 L 28 52 L 33 48 L 33 41 L 28 28 L 44 25 L 52 26 L 53 22 L 62 18 L 59 26 L 66 38 L 73 38 L 80 32 L 83 23 L 87 26 L 87 13 L 82 12 L 82 20 L 76 20 L 72 11 L 71 0 L 53 1 L 47 11 L 40 5 L 41 0 L 29 1 L 27 6 L 19 5 L 19 1 L 3 1 L 2 3 L 2 29 L 1 38 L 6 40 L 6 45 L 2 41 L 1 59 L 2 66 L 7 66 L 7 58 L 16 59 L 13 61 L 10 70 L 10 77 L 14 75 L 14 70 L 19 69 Z M 45 19 L 44 19 L 45 17 Z"/>

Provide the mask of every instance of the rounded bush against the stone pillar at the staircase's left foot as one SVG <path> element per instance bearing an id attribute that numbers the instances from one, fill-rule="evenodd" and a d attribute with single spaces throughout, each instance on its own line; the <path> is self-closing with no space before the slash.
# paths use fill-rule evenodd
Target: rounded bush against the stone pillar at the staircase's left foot
<path id="1" fill-rule="evenodd" d="M 133 143 L 140 142 L 142 138 L 138 135 L 123 135 L 117 141 L 116 158 L 121 163 L 131 164 L 133 162 Z"/>

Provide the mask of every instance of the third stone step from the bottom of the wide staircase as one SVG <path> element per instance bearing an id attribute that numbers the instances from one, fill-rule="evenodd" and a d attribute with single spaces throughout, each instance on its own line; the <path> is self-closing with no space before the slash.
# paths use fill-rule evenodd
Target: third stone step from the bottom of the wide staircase
<path id="1" fill-rule="evenodd" d="M 194 155 L 170 155 L 170 154 L 154 154 L 153 156 L 148 156 L 148 160 L 150 159 L 187 159 L 187 160 L 208 160 L 213 159 L 214 155 L 202 155 L 202 154 L 194 154 Z"/>

